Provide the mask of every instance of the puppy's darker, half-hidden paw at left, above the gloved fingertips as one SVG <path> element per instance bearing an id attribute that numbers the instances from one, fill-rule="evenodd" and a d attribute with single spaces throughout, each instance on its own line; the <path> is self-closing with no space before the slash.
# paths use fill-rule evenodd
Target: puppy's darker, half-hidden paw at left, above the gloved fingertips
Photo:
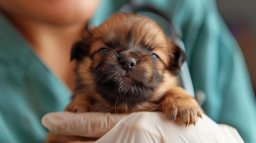
<path id="1" fill-rule="evenodd" d="M 90 103 L 87 101 L 72 101 L 66 108 L 65 111 L 69 112 L 88 112 Z"/>

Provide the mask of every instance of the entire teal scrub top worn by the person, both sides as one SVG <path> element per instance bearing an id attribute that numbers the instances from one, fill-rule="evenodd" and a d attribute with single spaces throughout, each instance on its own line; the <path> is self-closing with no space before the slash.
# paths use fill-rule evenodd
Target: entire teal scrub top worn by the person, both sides
<path id="1" fill-rule="evenodd" d="M 194 90 L 217 123 L 235 127 L 245 143 L 256 143 L 256 99 L 244 57 L 214 0 L 137 0 L 168 13 L 188 56 Z M 126 3 L 103 0 L 91 22 L 98 26 Z M 30 45 L 0 15 L 0 143 L 42 143 L 40 119 L 63 111 L 71 92 L 49 71 Z"/>

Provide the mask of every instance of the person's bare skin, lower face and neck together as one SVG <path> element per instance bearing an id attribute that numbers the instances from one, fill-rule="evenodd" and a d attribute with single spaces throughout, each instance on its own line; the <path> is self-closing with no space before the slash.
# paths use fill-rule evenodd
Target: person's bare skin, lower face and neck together
<path id="1" fill-rule="evenodd" d="M 0 0 L 0 11 L 44 64 L 74 89 L 72 44 L 80 39 L 100 0 Z"/>

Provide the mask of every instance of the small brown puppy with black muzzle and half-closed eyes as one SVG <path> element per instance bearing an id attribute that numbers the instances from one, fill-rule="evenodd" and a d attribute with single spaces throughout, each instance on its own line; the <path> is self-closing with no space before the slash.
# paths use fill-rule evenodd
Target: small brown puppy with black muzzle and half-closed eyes
<path id="1" fill-rule="evenodd" d="M 72 47 L 76 89 L 70 112 L 162 111 L 195 124 L 202 109 L 175 77 L 184 53 L 157 23 L 137 13 L 115 13 Z"/>

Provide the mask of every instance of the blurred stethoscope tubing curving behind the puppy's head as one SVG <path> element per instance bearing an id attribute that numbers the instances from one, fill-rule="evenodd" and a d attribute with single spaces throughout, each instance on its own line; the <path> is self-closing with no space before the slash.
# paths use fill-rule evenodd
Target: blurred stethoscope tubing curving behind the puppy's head
<path id="1" fill-rule="evenodd" d="M 180 46 L 182 50 L 185 51 L 185 46 L 182 40 L 177 37 L 174 33 L 173 27 L 171 26 L 171 22 L 169 21 L 170 16 L 166 13 L 162 13 L 161 11 L 147 6 L 147 5 L 139 5 L 135 0 L 127 0 L 127 4 L 125 4 L 121 9 L 121 12 L 137 12 L 141 15 L 146 15 L 153 20 L 155 20 L 165 31 L 166 35 L 173 39 L 173 44 Z M 168 33 L 167 33 L 168 31 Z M 195 97 L 195 92 L 191 80 L 191 76 L 189 73 L 189 67 L 186 62 L 181 67 L 180 77 L 182 79 L 182 86 L 184 89 L 192 96 Z"/>

